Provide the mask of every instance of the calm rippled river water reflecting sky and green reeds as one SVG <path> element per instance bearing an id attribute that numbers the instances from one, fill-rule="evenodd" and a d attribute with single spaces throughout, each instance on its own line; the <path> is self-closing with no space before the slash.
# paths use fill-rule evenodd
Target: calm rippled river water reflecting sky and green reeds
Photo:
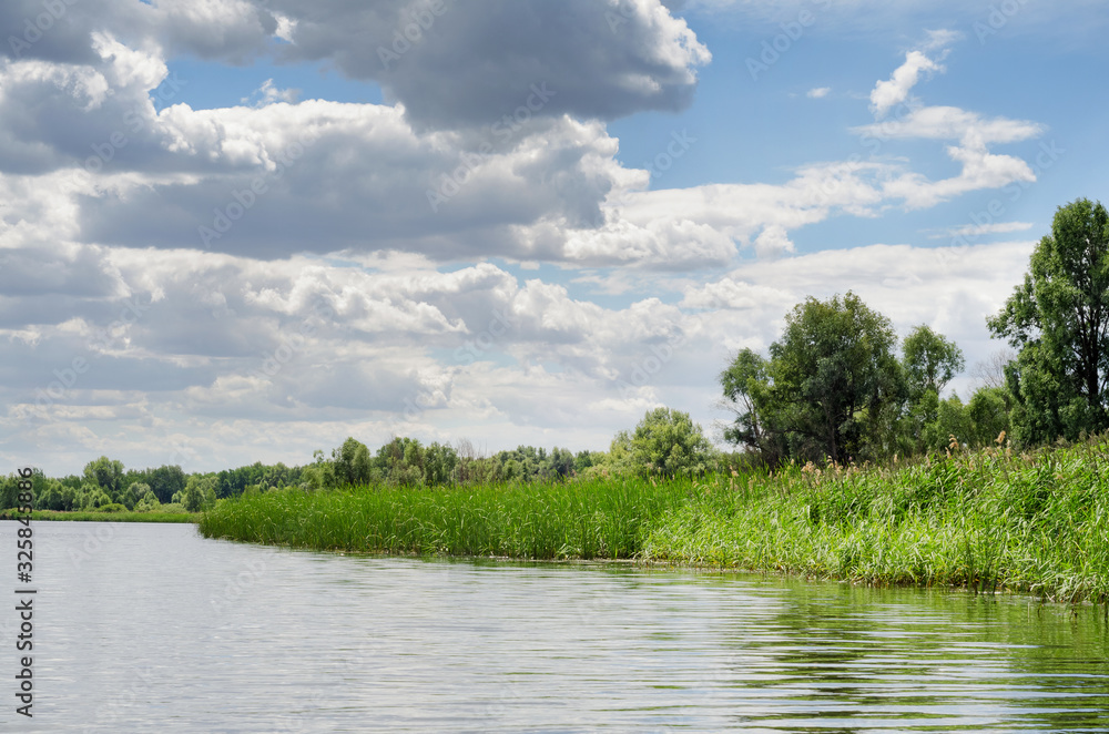
<path id="1" fill-rule="evenodd" d="M 35 716 L 14 715 L 4 604 L 4 732 L 1109 731 L 1089 609 L 34 530 Z"/>

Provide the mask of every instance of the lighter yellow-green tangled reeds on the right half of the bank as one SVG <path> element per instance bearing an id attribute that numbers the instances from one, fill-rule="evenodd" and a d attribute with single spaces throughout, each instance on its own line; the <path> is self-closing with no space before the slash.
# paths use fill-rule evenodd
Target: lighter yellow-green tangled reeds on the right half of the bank
<path id="1" fill-rule="evenodd" d="M 1109 601 L 1106 439 L 1021 456 L 714 482 L 652 527 L 641 558 L 868 583 Z"/>

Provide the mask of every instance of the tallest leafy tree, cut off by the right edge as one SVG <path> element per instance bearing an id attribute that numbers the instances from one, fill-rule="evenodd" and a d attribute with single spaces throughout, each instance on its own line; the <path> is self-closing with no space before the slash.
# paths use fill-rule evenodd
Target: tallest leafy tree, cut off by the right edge
<path id="1" fill-rule="evenodd" d="M 1018 349 L 1007 376 L 1019 440 L 1109 427 L 1109 213 L 1100 203 L 1058 208 L 1024 283 L 987 324 Z"/>

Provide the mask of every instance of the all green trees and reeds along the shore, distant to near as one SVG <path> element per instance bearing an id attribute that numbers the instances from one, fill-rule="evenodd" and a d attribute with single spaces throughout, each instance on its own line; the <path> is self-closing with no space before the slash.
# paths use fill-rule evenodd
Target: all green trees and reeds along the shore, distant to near
<path id="1" fill-rule="evenodd" d="M 733 453 L 663 407 L 608 451 L 476 457 L 468 442 L 395 438 L 374 455 L 352 437 L 305 467 L 189 477 L 101 457 L 83 478 L 37 473 L 35 495 L 61 510 L 204 511 L 208 537 L 304 548 L 640 559 L 1109 601 L 1100 203 L 1059 207 L 987 326 L 1014 350 L 979 366 L 964 404 L 942 398 L 965 367 L 942 334 L 920 325 L 898 339 L 851 292 L 805 299 L 769 356 L 743 349 L 720 375 Z M 0 482 L 0 508 L 13 486 Z"/>

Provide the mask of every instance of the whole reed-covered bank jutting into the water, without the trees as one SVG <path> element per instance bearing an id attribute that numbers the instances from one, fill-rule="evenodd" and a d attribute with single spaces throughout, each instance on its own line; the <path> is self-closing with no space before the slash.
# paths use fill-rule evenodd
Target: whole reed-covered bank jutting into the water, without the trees
<path id="1" fill-rule="evenodd" d="M 639 559 L 1109 601 L 1109 440 L 882 468 L 222 502 L 207 537 L 353 552 Z"/>

